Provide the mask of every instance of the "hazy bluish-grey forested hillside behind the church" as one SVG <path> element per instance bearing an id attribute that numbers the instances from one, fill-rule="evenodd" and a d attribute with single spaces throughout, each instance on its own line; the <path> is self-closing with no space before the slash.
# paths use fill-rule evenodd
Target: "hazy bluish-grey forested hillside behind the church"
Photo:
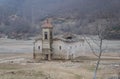
<path id="1" fill-rule="evenodd" d="M 109 26 L 106 38 L 120 38 L 120 0 L 0 0 L 0 33 L 39 34 L 40 22 L 53 18 L 55 34 L 95 34 L 96 23 Z M 29 28 L 29 29 L 28 29 Z M 89 28 L 89 30 L 88 30 Z"/>

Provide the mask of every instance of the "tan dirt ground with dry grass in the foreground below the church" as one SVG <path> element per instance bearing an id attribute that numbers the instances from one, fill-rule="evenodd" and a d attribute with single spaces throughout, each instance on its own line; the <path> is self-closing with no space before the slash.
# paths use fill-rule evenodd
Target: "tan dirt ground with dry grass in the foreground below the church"
<path id="1" fill-rule="evenodd" d="M 96 60 L 34 62 L 32 54 L 0 54 L 0 79 L 93 79 Z M 112 79 L 120 72 L 120 59 L 104 59 L 98 79 Z"/>

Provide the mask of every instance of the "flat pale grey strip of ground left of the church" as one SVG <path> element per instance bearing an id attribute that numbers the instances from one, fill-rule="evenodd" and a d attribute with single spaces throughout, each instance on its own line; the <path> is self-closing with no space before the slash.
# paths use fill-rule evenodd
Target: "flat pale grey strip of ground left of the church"
<path id="1" fill-rule="evenodd" d="M 32 53 L 34 40 L 0 38 L 0 53 Z"/>

